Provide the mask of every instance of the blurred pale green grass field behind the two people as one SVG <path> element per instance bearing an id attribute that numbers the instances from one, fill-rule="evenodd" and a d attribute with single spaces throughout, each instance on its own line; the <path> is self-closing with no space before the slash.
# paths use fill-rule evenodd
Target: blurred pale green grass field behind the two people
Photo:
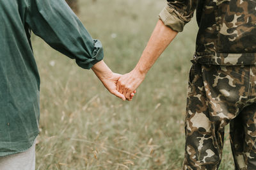
<path id="1" fill-rule="evenodd" d="M 165 1 L 81 0 L 79 18 L 104 45 L 113 72 L 132 70 Z M 132 102 L 112 96 L 91 70 L 33 36 L 41 75 L 36 169 L 181 169 L 190 22 L 157 60 Z M 234 169 L 228 141 L 220 169 Z"/>

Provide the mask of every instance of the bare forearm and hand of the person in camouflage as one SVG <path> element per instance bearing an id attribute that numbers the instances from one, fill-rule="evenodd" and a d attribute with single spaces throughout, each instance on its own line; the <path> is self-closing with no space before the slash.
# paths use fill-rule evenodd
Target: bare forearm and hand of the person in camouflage
<path id="1" fill-rule="evenodd" d="M 137 65 L 131 72 L 123 75 L 118 80 L 117 90 L 125 95 L 128 100 L 131 100 L 130 95 L 132 91 L 140 86 L 148 70 L 154 65 L 157 58 L 172 42 L 177 33 L 177 31 L 173 31 L 170 27 L 165 26 L 162 20 L 158 20 Z"/>

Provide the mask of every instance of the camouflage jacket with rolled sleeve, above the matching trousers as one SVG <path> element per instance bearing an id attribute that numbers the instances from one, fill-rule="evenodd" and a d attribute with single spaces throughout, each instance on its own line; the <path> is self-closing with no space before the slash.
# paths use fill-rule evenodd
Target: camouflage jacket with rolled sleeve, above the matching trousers
<path id="1" fill-rule="evenodd" d="M 167 0 L 159 14 L 166 26 L 182 31 L 196 9 L 199 30 L 195 56 L 213 65 L 256 64 L 255 0 Z"/>

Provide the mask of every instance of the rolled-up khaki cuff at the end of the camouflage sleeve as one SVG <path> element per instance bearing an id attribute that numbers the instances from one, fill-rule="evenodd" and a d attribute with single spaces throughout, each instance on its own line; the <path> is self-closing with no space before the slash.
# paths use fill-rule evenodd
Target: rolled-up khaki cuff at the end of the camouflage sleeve
<path id="1" fill-rule="evenodd" d="M 179 18 L 177 12 L 170 6 L 166 6 L 160 13 L 159 19 L 164 22 L 165 26 L 172 28 L 174 31 L 182 32 L 185 22 Z"/>

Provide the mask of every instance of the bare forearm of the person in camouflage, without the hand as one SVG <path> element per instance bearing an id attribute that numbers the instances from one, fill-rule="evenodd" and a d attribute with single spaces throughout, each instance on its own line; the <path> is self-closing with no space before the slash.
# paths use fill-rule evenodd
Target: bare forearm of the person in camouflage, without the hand
<path id="1" fill-rule="evenodd" d="M 163 21 L 159 20 L 134 70 L 146 74 L 177 33 L 170 27 L 164 26 Z"/>

